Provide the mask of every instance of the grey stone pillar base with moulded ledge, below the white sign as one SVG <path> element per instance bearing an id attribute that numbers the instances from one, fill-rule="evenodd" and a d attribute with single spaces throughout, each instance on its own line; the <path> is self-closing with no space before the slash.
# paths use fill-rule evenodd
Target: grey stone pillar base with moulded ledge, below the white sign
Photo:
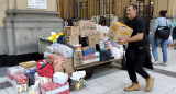
<path id="1" fill-rule="evenodd" d="M 8 10 L 4 20 L 8 55 L 37 52 L 38 38 L 45 38 L 51 32 L 63 32 L 64 22 L 55 11 Z"/>

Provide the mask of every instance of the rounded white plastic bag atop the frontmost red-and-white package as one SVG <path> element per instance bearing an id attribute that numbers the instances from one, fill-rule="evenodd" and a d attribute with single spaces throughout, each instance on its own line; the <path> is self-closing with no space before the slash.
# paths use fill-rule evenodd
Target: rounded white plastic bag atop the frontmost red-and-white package
<path id="1" fill-rule="evenodd" d="M 53 74 L 53 82 L 64 84 L 68 80 L 68 74 L 63 72 L 56 72 Z"/>

